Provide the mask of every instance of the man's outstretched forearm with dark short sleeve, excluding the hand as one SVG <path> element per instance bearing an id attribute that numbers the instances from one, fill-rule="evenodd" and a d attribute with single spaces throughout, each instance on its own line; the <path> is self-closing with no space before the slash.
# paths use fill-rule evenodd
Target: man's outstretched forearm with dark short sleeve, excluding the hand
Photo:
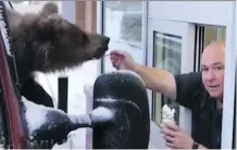
<path id="1" fill-rule="evenodd" d="M 162 68 L 139 64 L 133 71 L 141 76 L 147 88 L 176 100 L 183 107 L 192 109 L 199 103 L 194 93 L 202 87 L 201 73 L 174 75 Z"/>

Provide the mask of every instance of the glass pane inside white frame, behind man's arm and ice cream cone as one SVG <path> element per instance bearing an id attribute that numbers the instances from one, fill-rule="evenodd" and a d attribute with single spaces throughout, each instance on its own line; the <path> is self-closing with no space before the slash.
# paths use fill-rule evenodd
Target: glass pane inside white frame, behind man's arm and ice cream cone
<path id="1" fill-rule="evenodd" d="M 155 32 L 154 67 L 164 68 L 173 74 L 180 74 L 182 37 Z M 161 123 L 161 109 L 164 104 L 175 109 L 175 122 L 178 124 L 179 105 L 161 93 L 153 93 L 152 121 Z"/>

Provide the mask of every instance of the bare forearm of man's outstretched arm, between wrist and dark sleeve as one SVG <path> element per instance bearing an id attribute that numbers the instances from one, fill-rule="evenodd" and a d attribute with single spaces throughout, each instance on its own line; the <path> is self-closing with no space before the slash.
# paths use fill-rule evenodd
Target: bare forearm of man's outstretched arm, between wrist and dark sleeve
<path id="1" fill-rule="evenodd" d="M 165 70 L 148 67 L 137 64 L 134 72 L 141 76 L 147 88 L 176 99 L 176 84 L 174 75 Z"/>

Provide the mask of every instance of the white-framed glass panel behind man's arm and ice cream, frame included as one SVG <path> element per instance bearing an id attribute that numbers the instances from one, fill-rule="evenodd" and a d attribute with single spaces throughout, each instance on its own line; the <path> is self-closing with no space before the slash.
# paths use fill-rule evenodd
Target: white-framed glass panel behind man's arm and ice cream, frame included
<path id="1" fill-rule="evenodd" d="M 149 20 L 148 64 L 180 74 L 194 71 L 195 26 L 188 23 Z M 165 96 L 150 91 L 151 145 L 165 148 L 159 124 L 164 104 L 175 109 L 175 122 L 191 133 L 191 113 Z M 157 134 L 155 134 L 157 133 Z"/>

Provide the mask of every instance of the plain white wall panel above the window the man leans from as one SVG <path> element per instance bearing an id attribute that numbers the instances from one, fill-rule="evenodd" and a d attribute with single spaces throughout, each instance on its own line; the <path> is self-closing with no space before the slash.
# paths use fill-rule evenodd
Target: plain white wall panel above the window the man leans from
<path id="1" fill-rule="evenodd" d="M 232 1 L 150 1 L 149 18 L 226 25 Z"/>

